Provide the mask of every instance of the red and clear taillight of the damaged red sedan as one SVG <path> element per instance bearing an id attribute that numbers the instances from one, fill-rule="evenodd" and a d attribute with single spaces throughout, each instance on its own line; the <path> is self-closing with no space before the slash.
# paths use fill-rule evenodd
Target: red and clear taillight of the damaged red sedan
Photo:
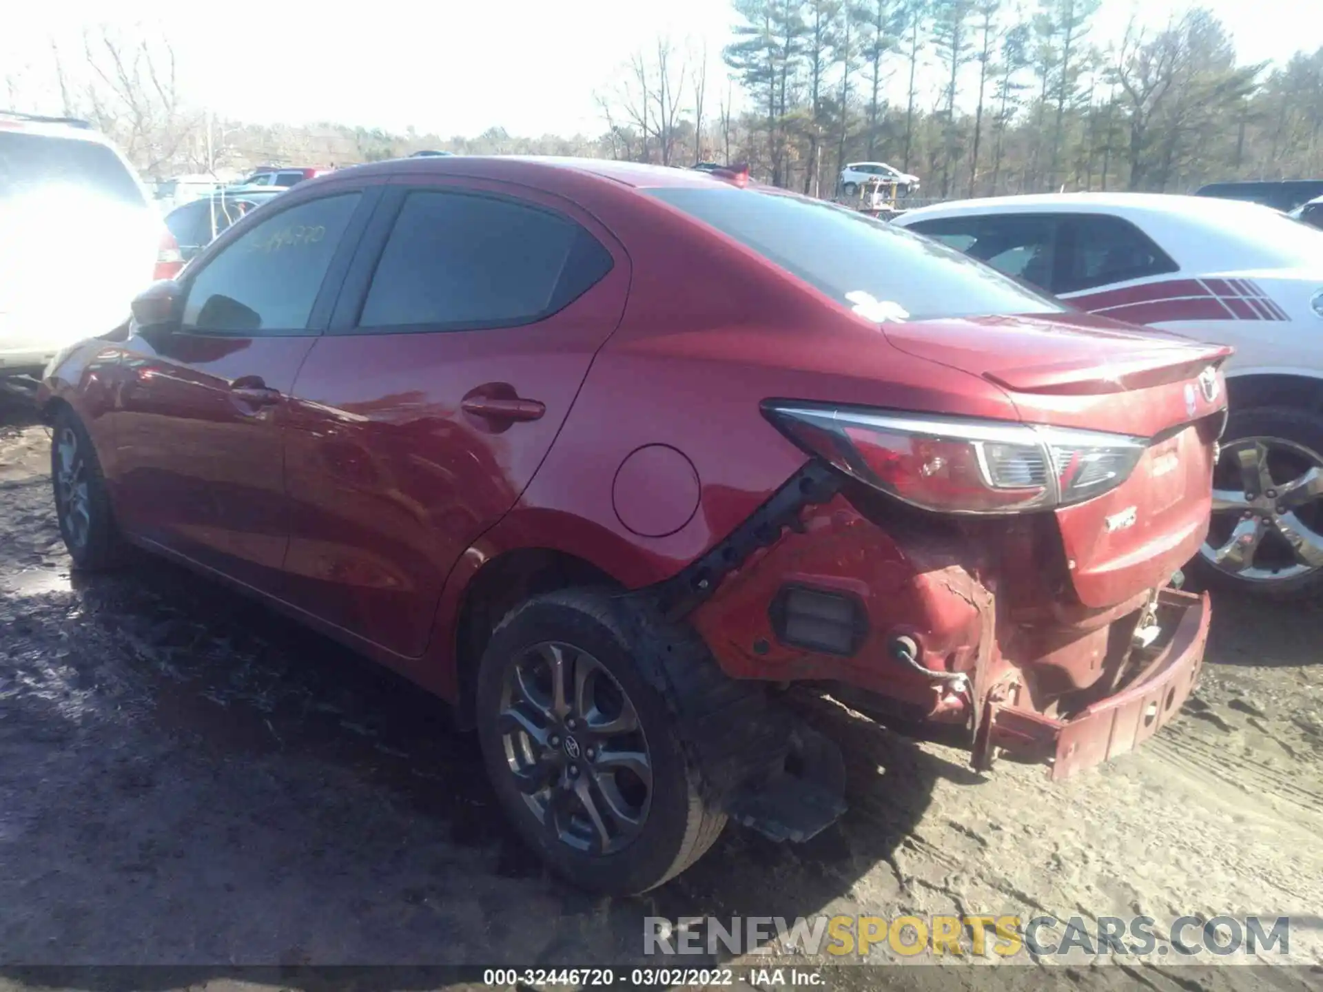
<path id="1" fill-rule="evenodd" d="M 769 402 L 786 436 L 860 481 L 942 513 L 1017 513 L 1121 485 L 1143 438 L 960 417 Z"/>

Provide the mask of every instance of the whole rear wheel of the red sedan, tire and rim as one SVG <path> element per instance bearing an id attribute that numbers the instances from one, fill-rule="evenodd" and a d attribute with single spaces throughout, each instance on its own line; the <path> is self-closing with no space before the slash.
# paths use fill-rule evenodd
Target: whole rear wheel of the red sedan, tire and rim
<path id="1" fill-rule="evenodd" d="M 606 594 L 552 593 L 511 612 L 483 655 L 476 702 L 505 813 L 576 885 L 646 891 L 720 835 L 725 813 Z"/>

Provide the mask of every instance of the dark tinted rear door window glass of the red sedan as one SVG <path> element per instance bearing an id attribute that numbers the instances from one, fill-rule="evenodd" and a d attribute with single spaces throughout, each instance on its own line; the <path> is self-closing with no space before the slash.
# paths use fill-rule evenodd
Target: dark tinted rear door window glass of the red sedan
<path id="1" fill-rule="evenodd" d="M 490 196 L 417 190 L 400 208 L 363 328 L 513 327 L 550 316 L 611 270 L 574 221 Z"/>

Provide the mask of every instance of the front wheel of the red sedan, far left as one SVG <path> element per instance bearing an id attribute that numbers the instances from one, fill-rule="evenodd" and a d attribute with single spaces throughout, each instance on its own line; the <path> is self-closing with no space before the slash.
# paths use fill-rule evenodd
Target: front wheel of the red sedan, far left
<path id="1" fill-rule="evenodd" d="M 73 460 L 66 464 L 70 444 Z M 110 505 L 97 448 L 82 421 L 69 407 L 61 409 L 52 425 L 50 485 L 60 536 L 74 567 L 105 571 L 122 565 L 126 545 Z"/>

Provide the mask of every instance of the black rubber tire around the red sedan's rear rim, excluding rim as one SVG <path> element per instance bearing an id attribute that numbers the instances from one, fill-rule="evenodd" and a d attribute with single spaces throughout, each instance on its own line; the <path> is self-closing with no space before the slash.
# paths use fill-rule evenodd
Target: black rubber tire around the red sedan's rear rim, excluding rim
<path id="1" fill-rule="evenodd" d="M 673 705 L 667 698 L 665 688 L 658 684 L 656 673 L 648 675 L 648 665 L 646 663 L 640 665 L 635 656 L 632 643 L 635 635 L 628 632 L 632 627 L 628 607 L 622 603 L 622 599 L 613 598 L 607 593 L 564 590 L 534 597 L 511 611 L 496 627 L 483 653 L 475 710 L 487 774 L 501 807 L 520 835 L 557 874 L 583 889 L 613 895 L 647 891 L 679 874 L 712 847 L 726 821 L 717 796 L 701 780 L 692 749 L 681 739 L 683 733 L 677 729 Z M 651 790 L 646 811 L 640 817 L 642 825 L 619 849 L 609 849 L 605 841 L 597 849 L 573 847 L 561 836 L 558 827 L 546 825 L 552 817 L 548 812 L 552 800 L 546 800 L 541 812 L 534 811 L 533 804 L 542 802 L 540 799 L 542 794 L 538 792 L 529 800 L 519 786 L 520 778 L 512 762 L 523 761 L 521 755 L 525 753 L 515 745 L 536 749 L 537 742 L 527 734 L 520 737 L 519 731 L 509 734 L 508 717 L 503 717 L 503 712 L 513 708 L 509 686 L 515 669 L 524 672 L 523 665 L 529 659 L 536 665 L 538 661 L 536 652 L 548 651 L 550 644 L 569 645 L 582 652 L 576 659 L 587 655 L 590 661 L 610 676 L 605 684 L 614 681 L 636 714 L 643 747 L 651 762 Z M 716 663 L 710 661 L 710 657 L 706 661 L 716 669 Z M 577 668 L 585 663 L 576 660 L 573 664 Z M 529 676 L 525 675 L 527 677 Z M 720 676 L 720 671 L 717 677 L 726 682 L 732 681 Z M 579 718 L 577 726 L 582 727 L 583 722 Z M 582 733 L 566 731 L 566 725 L 558 726 L 562 727 L 561 733 L 565 737 Z M 556 741 L 557 737 L 550 735 L 545 739 Z M 590 743 L 582 746 L 586 749 Z M 508 747 L 512 750 L 507 750 Z M 581 745 L 576 742 L 573 751 L 576 755 L 579 754 L 579 747 Z M 538 754 L 546 755 L 546 762 L 553 762 L 560 759 L 553 751 L 560 750 L 569 750 L 569 741 L 562 738 L 561 747 L 542 747 Z M 598 757 L 606 750 L 606 745 L 599 745 Z M 606 808 L 602 807 L 603 791 L 598 784 L 595 768 L 593 784 L 589 784 L 587 775 L 577 765 L 561 766 L 558 771 L 549 772 L 541 771 L 545 767 L 542 761 L 523 767 L 531 772 L 524 775 L 525 782 L 532 775 L 550 775 L 552 784 L 546 786 L 546 795 L 550 796 L 554 790 L 569 794 L 568 798 L 562 795 L 558 802 L 577 807 L 585 823 L 595 821 L 589 820 L 587 807 L 573 792 L 577 784 L 590 791 L 597 788 L 593 792 L 594 804 Z M 569 779 L 572 770 L 577 770 L 577 776 L 582 776 L 582 780 L 576 778 L 572 783 Z M 619 795 L 619 791 L 615 795 Z M 564 813 L 557 813 L 550 821 L 556 824 L 561 815 Z M 597 836 L 593 831 L 589 833 Z"/>

